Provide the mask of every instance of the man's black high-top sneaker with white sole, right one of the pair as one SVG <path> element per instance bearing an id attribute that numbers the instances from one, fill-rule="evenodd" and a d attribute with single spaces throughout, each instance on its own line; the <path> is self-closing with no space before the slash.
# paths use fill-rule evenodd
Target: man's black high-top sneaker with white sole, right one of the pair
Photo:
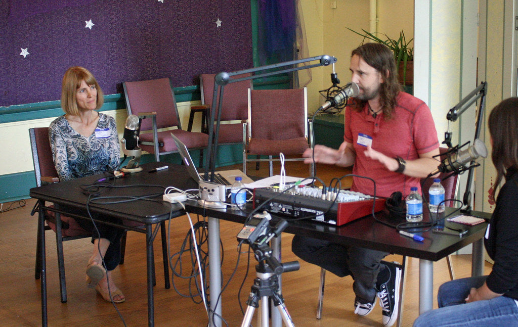
<path id="1" fill-rule="evenodd" d="M 399 264 L 394 261 L 395 264 Z M 399 309 L 399 288 L 401 286 L 401 268 L 393 263 L 385 263 L 389 269 L 389 280 L 379 286 L 378 298 L 380 298 L 383 310 L 383 326 L 390 327 L 396 322 Z"/>

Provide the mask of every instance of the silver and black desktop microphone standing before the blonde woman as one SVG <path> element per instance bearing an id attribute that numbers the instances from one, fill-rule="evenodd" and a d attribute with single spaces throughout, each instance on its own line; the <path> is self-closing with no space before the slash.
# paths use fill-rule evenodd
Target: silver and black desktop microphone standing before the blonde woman
<path id="1" fill-rule="evenodd" d="M 121 171 L 127 173 L 138 173 L 142 167 L 138 165 L 142 150 L 138 147 L 138 136 L 140 133 L 140 119 L 137 115 L 129 115 L 124 126 L 124 135 L 121 139 L 121 148 L 124 156 L 133 157 Z"/>

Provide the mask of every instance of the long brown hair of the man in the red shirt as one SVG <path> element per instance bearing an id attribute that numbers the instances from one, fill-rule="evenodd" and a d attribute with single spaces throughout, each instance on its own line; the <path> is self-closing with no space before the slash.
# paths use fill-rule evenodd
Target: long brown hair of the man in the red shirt
<path id="1" fill-rule="evenodd" d="M 365 43 L 354 49 L 351 57 L 361 57 L 367 65 L 381 73 L 383 83 L 380 85 L 380 105 L 386 120 L 392 118 L 396 97 L 401 91 L 401 85 L 397 80 L 396 61 L 394 53 L 381 43 Z M 355 110 L 362 111 L 367 101 L 356 101 Z"/>

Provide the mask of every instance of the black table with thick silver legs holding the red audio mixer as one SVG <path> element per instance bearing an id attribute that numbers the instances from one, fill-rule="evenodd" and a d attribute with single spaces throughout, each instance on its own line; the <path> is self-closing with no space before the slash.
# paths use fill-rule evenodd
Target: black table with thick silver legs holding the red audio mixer
<path id="1" fill-rule="evenodd" d="M 210 285 L 211 292 L 218 294 L 221 286 L 220 279 L 220 254 L 219 254 L 219 221 L 224 219 L 243 224 L 244 219 L 248 216 L 245 212 L 233 211 L 231 209 L 210 209 L 199 206 L 194 201 L 188 201 L 185 207 L 187 212 L 197 213 L 209 217 L 209 266 L 210 269 Z M 247 206 L 247 212 L 252 211 L 251 205 Z M 447 207 L 445 214 L 453 211 Z M 491 217 L 490 214 L 473 212 L 477 216 Z M 391 218 L 388 213 L 380 212 L 376 214 L 381 221 L 391 225 L 403 222 L 401 219 Z M 428 213 L 425 213 L 424 220 L 428 221 Z M 458 224 L 445 222 L 446 226 L 459 227 Z M 422 233 L 424 242 L 416 242 L 409 237 L 400 235 L 394 228 L 381 224 L 369 215 L 343 226 L 333 226 L 315 222 L 310 220 L 290 221 L 284 232 L 311 236 L 322 240 L 341 243 L 344 245 L 362 246 L 376 250 L 383 250 L 393 254 L 410 256 L 419 258 L 419 312 L 433 308 L 433 262 L 438 261 L 453 252 L 473 244 L 472 255 L 472 275 L 479 276 L 483 274 L 483 236 L 487 227 L 487 223 L 476 226 L 467 227 L 469 230 L 463 237 L 433 233 L 432 231 Z M 276 240 L 277 239 L 277 240 Z M 274 238 L 272 241 L 278 242 L 272 245 L 274 255 L 280 258 L 280 237 Z M 212 257 L 213 256 L 213 257 Z M 214 313 L 221 315 L 221 301 L 218 306 L 211 309 Z M 275 311 L 272 311 L 272 314 Z M 277 318 L 280 321 L 280 318 Z M 272 318 L 273 320 L 273 318 Z M 212 319 L 209 319 L 212 325 Z M 215 319 L 215 324 L 220 325 L 221 321 Z"/>

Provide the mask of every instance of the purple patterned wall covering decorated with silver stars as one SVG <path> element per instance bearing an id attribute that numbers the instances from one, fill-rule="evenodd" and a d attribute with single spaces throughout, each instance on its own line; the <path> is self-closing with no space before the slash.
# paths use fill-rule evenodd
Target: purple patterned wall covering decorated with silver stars
<path id="1" fill-rule="evenodd" d="M 202 72 L 251 68 L 250 15 L 243 0 L 0 1 L 0 106 L 58 100 L 75 65 L 105 94 L 123 81 L 189 86 Z"/>

